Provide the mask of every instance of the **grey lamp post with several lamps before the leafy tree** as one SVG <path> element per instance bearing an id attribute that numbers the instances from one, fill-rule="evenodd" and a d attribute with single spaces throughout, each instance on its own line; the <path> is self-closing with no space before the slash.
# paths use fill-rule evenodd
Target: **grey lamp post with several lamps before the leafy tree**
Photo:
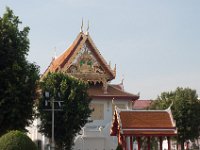
<path id="1" fill-rule="evenodd" d="M 45 97 L 50 98 L 49 92 L 45 92 Z M 60 97 L 60 93 L 58 93 Z M 45 100 L 45 105 L 48 106 L 48 103 L 51 103 L 51 109 L 45 109 L 46 111 L 51 111 L 52 123 L 51 123 L 51 150 L 55 150 L 55 139 L 54 139 L 54 122 L 55 122 L 55 111 L 62 111 L 61 109 L 55 109 L 55 102 L 61 107 L 63 101 L 55 101 L 54 96 L 50 98 L 50 101 Z"/>

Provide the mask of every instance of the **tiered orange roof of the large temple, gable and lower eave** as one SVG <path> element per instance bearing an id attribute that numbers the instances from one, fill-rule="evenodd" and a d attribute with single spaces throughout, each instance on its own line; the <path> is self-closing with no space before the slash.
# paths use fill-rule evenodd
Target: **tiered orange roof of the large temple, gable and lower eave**
<path id="1" fill-rule="evenodd" d="M 73 44 L 58 58 L 54 58 L 44 72 L 64 72 L 91 86 L 88 90 L 92 98 L 137 100 L 138 95 L 125 92 L 122 85 L 108 84 L 116 76 L 114 69 L 104 60 L 89 34 L 80 32 Z"/>

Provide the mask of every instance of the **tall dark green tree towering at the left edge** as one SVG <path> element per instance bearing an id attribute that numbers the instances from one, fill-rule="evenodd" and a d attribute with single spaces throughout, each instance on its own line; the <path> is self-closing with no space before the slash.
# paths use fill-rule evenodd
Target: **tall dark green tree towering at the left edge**
<path id="1" fill-rule="evenodd" d="M 0 17 L 0 135 L 25 130 L 33 117 L 38 67 L 26 59 L 29 28 L 6 8 Z"/>

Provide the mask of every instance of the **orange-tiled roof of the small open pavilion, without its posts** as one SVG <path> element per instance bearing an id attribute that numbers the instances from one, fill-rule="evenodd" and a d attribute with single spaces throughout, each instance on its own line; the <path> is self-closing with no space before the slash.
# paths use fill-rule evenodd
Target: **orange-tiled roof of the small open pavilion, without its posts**
<path id="1" fill-rule="evenodd" d="M 170 109 L 166 110 L 123 110 L 116 108 L 111 135 L 117 132 L 136 136 L 173 136 L 176 124 Z"/>

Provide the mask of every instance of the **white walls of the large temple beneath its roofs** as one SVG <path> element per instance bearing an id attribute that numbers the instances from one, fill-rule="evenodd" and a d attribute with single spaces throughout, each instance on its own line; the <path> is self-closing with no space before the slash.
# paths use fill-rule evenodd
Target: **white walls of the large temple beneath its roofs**
<path id="1" fill-rule="evenodd" d="M 102 120 L 93 120 L 83 127 L 84 132 L 75 138 L 74 150 L 115 150 L 117 146 L 117 138 L 110 136 L 110 127 L 113 118 L 114 105 L 123 106 L 131 109 L 131 103 L 128 100 L 92 100 L 92 103 L 103 104 Z M 91 118 L 90 118 L 91 119 Z M 42 150 L 49 144 L 49 140 L 38 132 L 37 125 L 40 123 L 38 119 L 28 127 L 28 136 L 33 140 L 41 140 Z"/>

